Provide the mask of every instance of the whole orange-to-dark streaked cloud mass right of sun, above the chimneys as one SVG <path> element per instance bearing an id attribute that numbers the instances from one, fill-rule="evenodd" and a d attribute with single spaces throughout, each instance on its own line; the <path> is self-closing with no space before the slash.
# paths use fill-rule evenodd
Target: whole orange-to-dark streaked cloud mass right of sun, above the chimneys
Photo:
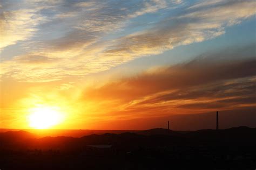
<path id="1" fill-rule="evenodd" d="M 95 107 L 105 108 L 101 116 L 115 119 L 255 107 L 256 60 L 238 60 L 235 53 L 213 53 L 103 86 L 95 84 L 85 89 L 81 101 L 95 102 Z M 216 59 L 223 56 L 225 60 Z"/>

